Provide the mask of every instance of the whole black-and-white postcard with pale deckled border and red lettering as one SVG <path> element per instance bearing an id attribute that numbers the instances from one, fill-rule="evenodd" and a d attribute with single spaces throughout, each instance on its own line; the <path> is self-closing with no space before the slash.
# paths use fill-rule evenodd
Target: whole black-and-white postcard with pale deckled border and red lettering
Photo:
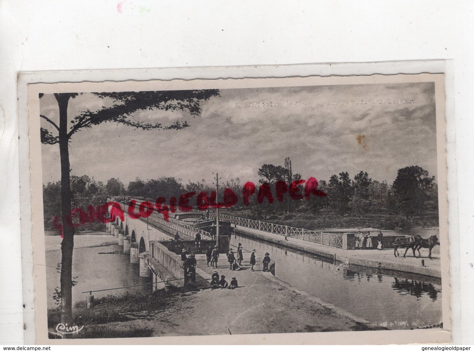
<path id="1" fill-rule="evenodd" d="M 442 74 L 90 84 L 30 87 L 43 340 L 449 333 Z"/>

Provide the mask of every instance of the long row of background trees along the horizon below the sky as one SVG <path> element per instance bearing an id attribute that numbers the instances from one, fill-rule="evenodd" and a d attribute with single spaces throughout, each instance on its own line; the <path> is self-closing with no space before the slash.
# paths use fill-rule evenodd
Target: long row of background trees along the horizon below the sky
<path id="1" fill-rule="evenodd" d="M 222 199 L 224 188 L 230 188 L 240 198 L 237 205 L 229 211 L 246 211 L 252 218 L 267 220 L 292 214 L 295 216 L 353 216 L 359 219 L 373 216 L 402 216 L 406 219 L 437 214 L 438 188 L 434 177 L 419 166 L 408 166 L 398 170 L 397 177 L 392 184 L 386 181 L 379 182 L 369 178 L 369 174 L 360 171 L 353 179 L 348 172 L 334 174 L 329 181 L 320 180 L 319 189 L 328 194 L 327 197 L 311 196 L 309 201 L 294 201 L 287 194 L 283 201 L 278 201 L 274 186 L 277 181 L 284 180 L 287 184 L 301 179 L 301 175 L 292 171 L 292 162 L 286 158 L 284 165 L 264 164 L 258 170 L 260 177 L 258 186 L 270 184 L 273 189 L 273 203 L 265 200 L 258 204 L 256 196 L 250 198 L 249 206 L 245 206 L 242 198 L 242 184 L 240 180 L 232 179 L 222 184 L 219 197 Z M 303 185 L 299 186 L 303 193 Z M 104 185 L 87 175 L 71 177 L 71 191 L 74 207 L 97 205 L 96 202 L 108 197 L 130 196 L 146 198 L 154 201 L 158 197 L 167 200 L 171 197 L 179 198 L 185 192 L 214 191 L 212 182 L 201 180 L 187 184 L 182 179 L 162 177 L 152 180 L 136 178 L 125 185 L 116 178 L 111 178 Z M 45 225 L 52 228 L 52 219 L 60 210 L 60 182 L 48 183 L 44 186 Z M 245 214 L 243 214 L 245 215 Z M 90 228 L 87 228 L 90 229 Z"/>

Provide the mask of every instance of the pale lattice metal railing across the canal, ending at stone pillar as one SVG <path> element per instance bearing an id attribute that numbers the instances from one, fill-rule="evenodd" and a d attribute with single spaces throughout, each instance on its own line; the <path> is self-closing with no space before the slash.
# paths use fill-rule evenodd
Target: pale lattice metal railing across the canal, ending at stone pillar
<path id="1" fill-rule="evenodd" d="M 204 211 L 191 209 L 193 213 L 203 214 Z M 216 219 L 215 212 L 209 212 L 210 219 Z M 333 233 L 317 232 L 303 228 L 289 227 L 288 225 L 280 225 L 269 222 L 256 221 L 254 219 L 235 217 L 229 215 L 219 215 L 219 221 L 230 222 L 235 225 L 244 226 L 251 229 L 261 230 L 263 232 L 289 236 L 291 238 L 306 240 L 312 243 L 334 246 L 342 248 L 342 235 Z"/>

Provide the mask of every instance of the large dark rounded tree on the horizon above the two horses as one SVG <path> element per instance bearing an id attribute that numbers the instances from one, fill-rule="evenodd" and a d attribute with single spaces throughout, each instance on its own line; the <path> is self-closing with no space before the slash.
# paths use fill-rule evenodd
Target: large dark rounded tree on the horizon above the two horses
<path id="1" fill-rule="evenodd" d="M 428 193 L 435 184 L 435 177 L 430 177 L 428 171 L 419 166 L 408 166 L 398 170 L 397 178 L 393 181 L 393 206 L 397 213 L 410 216 L 420 216 L 425 210 Z"/>

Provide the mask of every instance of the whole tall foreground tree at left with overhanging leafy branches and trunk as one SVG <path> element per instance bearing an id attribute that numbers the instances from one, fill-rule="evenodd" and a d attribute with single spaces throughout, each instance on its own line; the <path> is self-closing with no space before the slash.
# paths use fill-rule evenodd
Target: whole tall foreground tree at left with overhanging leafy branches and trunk
<path id="1" fill-rule="evenodd" d="M 136 121 L 133 114 L 137 111 L 185 111 L 191 116 L 199 116 L 201 113 L 200 102 L 208 100 L 213 96 L 219 96 L 219 90 L 167 90 L 167 91 L 139 91 L 139 92 L 111 92 L 92 93 L 100 99 L 107 99 L 109 107 L 103 106 L 97 111 L 86 110 L 73 116 L 68 116 L 68 104 L 70 99 L 78 96 L 78 93 L 55 93 L 55 99 L 59 108 L 59 121 L 55 123 L 47 116 L 40 115 L 51 125 L 51 133 L 46 128 L 40 128 L 41 142 L 43 144 L 59 144 L 61 159 L 61 219 L 66 224 L 66 218 L 71 212 L 72 192 L 69 161 L 69 141 L 71 137 L 84 128 L 91 128 L 104 122 L 120 123 L 126 126 L 152 129 L 175 129 L 179 130 L 188 125 L 186 121 L 176 121 L 164 126 L 161 123 L 142 123 Z M 41 98 L 44 94 L 39 94 Z M 74 227 L 64 225 L 64 238 L 61 243 L 61 322 L 72 323 L 72 263 L 74 248 Z M 66 334 L 67 335 L 67 334 Z"/>

